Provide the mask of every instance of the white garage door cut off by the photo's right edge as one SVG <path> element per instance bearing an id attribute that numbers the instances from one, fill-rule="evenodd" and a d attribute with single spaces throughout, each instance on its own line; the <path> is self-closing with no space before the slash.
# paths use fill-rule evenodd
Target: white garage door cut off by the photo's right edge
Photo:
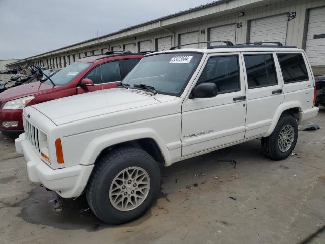
<path id="1" fill-rule="evenodd" d="M 325 65 L 325 8 L 309 13 L 306 53 L 311 65 Z"/>

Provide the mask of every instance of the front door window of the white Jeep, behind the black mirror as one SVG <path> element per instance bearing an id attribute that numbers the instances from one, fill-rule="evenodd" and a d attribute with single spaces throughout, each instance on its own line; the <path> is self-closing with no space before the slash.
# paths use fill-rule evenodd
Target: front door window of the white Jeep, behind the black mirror
<path id="1" fill-rule="evenodd" d="M 211 57 L 197 82 L 212 82 L 218 93 L 240 90 L 238 56 Z"/>

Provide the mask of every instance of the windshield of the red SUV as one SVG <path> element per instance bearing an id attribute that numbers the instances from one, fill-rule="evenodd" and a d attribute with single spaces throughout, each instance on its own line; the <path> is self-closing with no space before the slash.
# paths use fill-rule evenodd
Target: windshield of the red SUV
<path id="1" fill-rule="evenodd" d="M 66 85 L 70 81 L 72 81 L 78 74 L 80 74 L 80 72 L 88 68 L 91 64 L 92 63 L 87 62 L 74 62 L 66 68 L 63 68 L 50 78 L 55 84 L 55 86 Z M 51 81 L 49 80 L 46 80 L 44 83 L 52 85 Z"/>

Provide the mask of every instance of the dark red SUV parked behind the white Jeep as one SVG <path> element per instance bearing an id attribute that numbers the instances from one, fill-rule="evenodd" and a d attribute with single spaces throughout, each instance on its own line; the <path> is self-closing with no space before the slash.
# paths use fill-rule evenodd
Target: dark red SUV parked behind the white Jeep
<path id="1" fill-rule="evenodd" d="M 22 110 L 25 106 L 116 87 L 143 55 L 125 53 L 84 57 L 50 77 L 54 85 L 46 79 L 0 93 L 0 131 L 12 138 L 23 133 Z"/>

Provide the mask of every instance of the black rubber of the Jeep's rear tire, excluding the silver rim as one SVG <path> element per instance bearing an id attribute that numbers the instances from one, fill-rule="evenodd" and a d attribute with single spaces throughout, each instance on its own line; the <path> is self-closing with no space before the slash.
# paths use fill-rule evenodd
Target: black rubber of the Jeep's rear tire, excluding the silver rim
<path id="1" fill-rule="evenodd" d="M 281 151 L 278 142 L 279 134 L 286 125 L 291 125 L 294 128 L 294 140 L 287 151 Z M 272 134 L 268 137 L 262 137 L 261 145 L 263 153 L 272 160 L 285 159 L 291 155 L 294 150 L 298 139 L 298 124 L 296 118 L 291 114 L 281 115 L 278 124 L 274 128 Z"/>

